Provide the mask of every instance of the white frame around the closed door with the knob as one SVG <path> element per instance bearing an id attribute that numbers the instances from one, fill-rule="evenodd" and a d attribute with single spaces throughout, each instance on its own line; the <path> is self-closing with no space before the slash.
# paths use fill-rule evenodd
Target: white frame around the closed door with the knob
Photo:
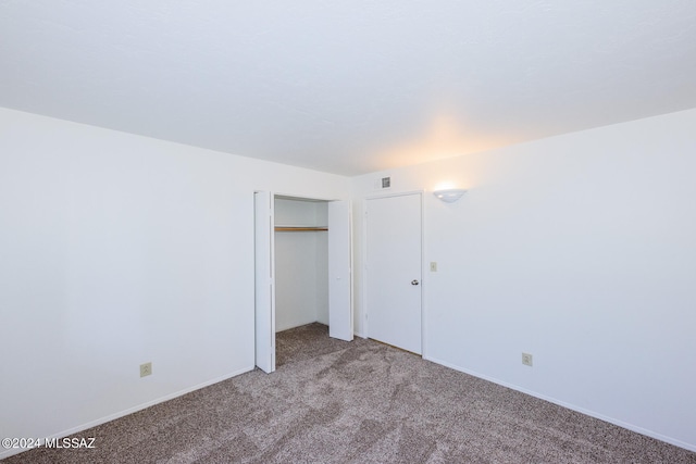
<path id="1" fill-rule="evenodd" d="M 360 259 L 362 266 L 360 268 L 360 303 L 362 306 L 362 327 L 365 338 L 370 338 L 370 315 L 368 308 L 368 200 L 380 200 L 383 198 L 403 197 L 407 195 L 419 195 L 421 197 L 421 358 L 426 359 L 426 329 L 425 329 L 425 292 L 427 291 L 426 273 L 425 273 L 425 190 L 406 190 L 399 192 L 377 193 L 363 197 L 362 201 L 362 227 Z"/>

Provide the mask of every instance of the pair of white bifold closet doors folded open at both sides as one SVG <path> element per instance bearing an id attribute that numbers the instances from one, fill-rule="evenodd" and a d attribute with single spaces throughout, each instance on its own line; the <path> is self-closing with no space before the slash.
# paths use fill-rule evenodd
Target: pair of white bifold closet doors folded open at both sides
<path id="1" fill-rule="evenodd" d="M 352 340 L 352 260 L 350 203 L 330 201 L 328 209 L 328 330 Z M 274 196 L 254 193 L 256 365 L 275 371 L 275 256 Z"/>

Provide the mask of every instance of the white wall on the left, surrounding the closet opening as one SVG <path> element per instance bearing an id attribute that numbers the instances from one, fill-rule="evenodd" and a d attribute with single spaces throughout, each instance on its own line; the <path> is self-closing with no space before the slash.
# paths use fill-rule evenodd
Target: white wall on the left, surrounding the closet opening
<path id="1" fill-rule="evenodd" d="M 251 369 L 254 189 L 349 179 L 0 109 L 0 437 Z"/>

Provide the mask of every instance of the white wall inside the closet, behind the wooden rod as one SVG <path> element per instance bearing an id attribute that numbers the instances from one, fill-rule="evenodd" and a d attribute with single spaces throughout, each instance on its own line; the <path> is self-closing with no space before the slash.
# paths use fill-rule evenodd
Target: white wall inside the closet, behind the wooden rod
<path id="1" fill-rule="evenodd" d="M 325 202 L 275 200 L 277 226 L 326 226 Z M 326 231 L 275 233 L 275 329 L 328 324 Z"/>

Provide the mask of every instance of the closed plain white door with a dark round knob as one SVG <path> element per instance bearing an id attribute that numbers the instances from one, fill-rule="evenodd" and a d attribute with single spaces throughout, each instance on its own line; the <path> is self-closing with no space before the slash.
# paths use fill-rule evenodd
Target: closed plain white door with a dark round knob
<path id="1" fill-rule="evenodd" d="M 421 193 L 366 200 L 370 338 L 422 354 Z"/>

